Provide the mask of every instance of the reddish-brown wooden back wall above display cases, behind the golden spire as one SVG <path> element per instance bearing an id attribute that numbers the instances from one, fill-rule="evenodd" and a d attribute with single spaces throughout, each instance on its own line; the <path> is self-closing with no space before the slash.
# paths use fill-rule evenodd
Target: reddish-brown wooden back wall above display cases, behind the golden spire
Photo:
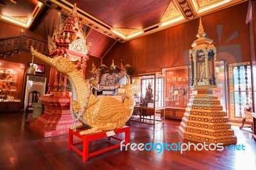
<path id="1" fill-rule="evenodd" d="M 225 8 L 202 17 L 204 32 L 214 40 L 217 60 L 226 63 L 250 61 L 249 27 L 245 24 L 248 2 Z M 161 68 L 189 65 L 191 44 L 196 40 L 199 18 L 164 29 L 127 43 L 116 43 L 103 58 L 111 65 L 121 59 L 132 66 L 132 75 L 159 72 Z M 220 38 L 218 37 L 218 29 Z"/>

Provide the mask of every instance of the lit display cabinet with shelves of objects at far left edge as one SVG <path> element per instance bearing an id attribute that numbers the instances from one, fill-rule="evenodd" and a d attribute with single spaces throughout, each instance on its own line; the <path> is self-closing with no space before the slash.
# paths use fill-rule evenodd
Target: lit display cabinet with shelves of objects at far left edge
<path id="1" fill-rule="evenodd" d="M 0 111 L 20 111 L 24 65 L 0 61 Z"/>

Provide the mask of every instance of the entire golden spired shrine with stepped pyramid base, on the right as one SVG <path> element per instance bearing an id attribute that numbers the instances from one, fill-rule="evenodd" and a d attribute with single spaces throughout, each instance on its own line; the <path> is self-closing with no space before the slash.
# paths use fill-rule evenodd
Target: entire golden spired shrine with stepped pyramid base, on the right
<path id="1" fill-rule="evenodd" d="M 189 51 L 191 61 L 191 86 L 196 93 L 189 99 L 179 127 L 183 139 L 198 143 L 237 143 L 234 130 L 228 123 L 220 100 L 213 93 L 215 82 L 216 48 L 212 40 L 205 38 L 200 19 L 198 37 Z"/>

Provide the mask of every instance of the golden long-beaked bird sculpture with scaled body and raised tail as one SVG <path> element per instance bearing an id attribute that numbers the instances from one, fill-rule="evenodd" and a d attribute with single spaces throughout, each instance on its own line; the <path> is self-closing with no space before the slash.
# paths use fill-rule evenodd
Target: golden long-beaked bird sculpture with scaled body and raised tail
<path id="1" fill-rule="evenodd" d="M 136 79 L 133 84 L 125 85 L 124 103 L 109 96 L 97 98 L 90 92 L 81 70 L 77 70 L 68 58 L 62 56 L 49 58 L 34 50 L 33 47 L 31 47 L 31 53 L 51 65 L 57 72 L 67 75 L 72 86 L 71 112 L 74 127 L 71 128 L 74 131 L 85 126 L 90 128 L 81 131 L 81 135 L 114 130 L 124 126 L 131 118 L 135 105 L 134 95 L 140 92 L 139 79 Z M 77 121 L 81 123 L 76 125 Z"/>

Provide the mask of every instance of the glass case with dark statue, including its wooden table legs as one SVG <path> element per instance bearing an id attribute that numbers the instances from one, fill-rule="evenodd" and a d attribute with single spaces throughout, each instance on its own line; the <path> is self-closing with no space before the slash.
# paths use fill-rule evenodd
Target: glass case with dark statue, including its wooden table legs
<path id="1" fill-rule="evenodd" d="M 159 73 L 143 73 L 132 75 L 131 81 L 134 79 L 141 80 L 140 95 L 136 97 L 134 107 L 140 117 L 133 117 L 131 121 L 150 123 L 154 127 L 158 123 L 164 123 L 164 76 Z M 148 116 L 150 118 L 147 118 Z"/>

